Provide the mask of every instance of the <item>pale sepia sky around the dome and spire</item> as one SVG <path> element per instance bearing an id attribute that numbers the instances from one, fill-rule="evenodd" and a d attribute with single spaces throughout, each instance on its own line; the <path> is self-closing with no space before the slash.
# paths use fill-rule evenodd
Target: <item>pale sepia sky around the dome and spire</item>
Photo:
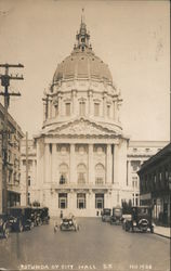
<path id="1" fill-rule="evenodd" d="M 42 127 L 43 92 L 73 51 L 83 8 L 93 51 L 121 91 L 124 134 L 169 141 L 169 5 L 167 0 L 0 0 L 0 63 L 25 66 L 10 70 L 24 75 L 24 80 L 11 80 L 10 91 L 22 95 L 12 96 L 9 108 L 23 131 L 31 138 Z"/>

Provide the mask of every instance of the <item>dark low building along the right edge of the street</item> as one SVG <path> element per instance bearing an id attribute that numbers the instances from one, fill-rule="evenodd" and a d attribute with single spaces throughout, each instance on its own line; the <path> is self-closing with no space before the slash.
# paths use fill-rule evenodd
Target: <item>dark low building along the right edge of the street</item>
<path id="1" fill-rule="evenodd" d="M 146 160 L 139 170 L 141 203 L 153 207 L 156 222 L 170 224 L 171 144 Z"/>

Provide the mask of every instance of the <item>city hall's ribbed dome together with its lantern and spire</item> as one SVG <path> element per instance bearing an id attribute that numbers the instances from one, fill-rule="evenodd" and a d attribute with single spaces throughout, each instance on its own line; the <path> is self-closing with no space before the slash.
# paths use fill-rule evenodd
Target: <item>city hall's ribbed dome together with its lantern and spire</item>
<path id="1" fill-rule="evenodd" d="M 53 83 L 62 79 L 97 79 L 113 82 L 108 66 L 97 57 L 89 43 L 90 35 L 81 18 L 79 33 L 76 35 L 77 46 L 57 68 L 53 76 Z"/>

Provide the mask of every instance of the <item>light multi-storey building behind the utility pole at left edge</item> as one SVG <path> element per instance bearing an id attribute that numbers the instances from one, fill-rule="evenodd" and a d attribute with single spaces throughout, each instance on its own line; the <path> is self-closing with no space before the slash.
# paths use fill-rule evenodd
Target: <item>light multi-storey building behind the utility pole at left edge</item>
<path id="1" fill-rule="evenodd" d="M 4 107 L 0 103 L 0 212 L 3 191 L 3 121 Z M 24 133 L 13 117 L 8 114 L 8 206 L 21 204 L 21 140 Z"/>

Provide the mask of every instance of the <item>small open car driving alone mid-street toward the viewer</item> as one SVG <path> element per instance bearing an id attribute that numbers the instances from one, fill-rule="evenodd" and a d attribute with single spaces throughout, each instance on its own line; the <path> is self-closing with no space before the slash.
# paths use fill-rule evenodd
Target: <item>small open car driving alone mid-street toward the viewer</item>
<path id="1" fill-rule="evenodd" d="M 79 225 L 77 224 L 76 218 L 74 216 L 68 216 L 62 219 L 60 224 L 61 231 L 79 231 Z"/>

